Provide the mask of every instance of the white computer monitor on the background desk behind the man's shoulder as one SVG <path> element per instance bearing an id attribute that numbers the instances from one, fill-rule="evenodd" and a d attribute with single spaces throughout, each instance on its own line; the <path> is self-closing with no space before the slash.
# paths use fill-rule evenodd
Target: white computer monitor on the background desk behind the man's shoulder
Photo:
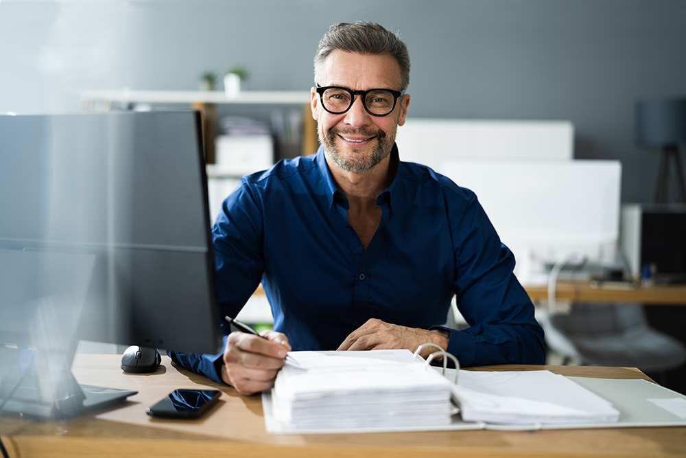
<path id="1" fill-rule="evenodd" d="M 438 171 L 476 193 L 521 283 L 547 283 L 558 262 L 616 264 L 619 161 L 450 158 Z"/>

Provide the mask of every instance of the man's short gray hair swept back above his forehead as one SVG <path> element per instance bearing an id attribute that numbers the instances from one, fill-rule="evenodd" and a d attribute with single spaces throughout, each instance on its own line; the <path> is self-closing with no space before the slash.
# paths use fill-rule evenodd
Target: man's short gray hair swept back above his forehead
<path id="1" fill-rule="evenodd" d="M 400 90 L 404 91 L 410 84 L 410 54 L 407 47 L 399 33 L 391 32 L 382 25 L 369 21 L 331 25 L 314 55 L 315 80 L 324 61 L 335 49 L 357 54 L 390 54 L 400 67 Z"/>

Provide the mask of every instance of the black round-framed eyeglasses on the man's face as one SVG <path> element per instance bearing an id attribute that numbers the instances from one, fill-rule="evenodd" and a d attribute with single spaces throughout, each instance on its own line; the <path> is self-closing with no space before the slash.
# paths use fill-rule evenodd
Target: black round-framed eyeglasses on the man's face
<path id="1" fill-rule="evenodd" d="M 405 91 L 393 91 L 392 89 L 353 91 L 353 89 L 345 87 L 320 87 L 317 84 L 317 93 L 322 100 L 324 110 L 332 115 L 342 115 L 348 111 L 355 102 L 355 95 L 360 95 L 362 96 L 362 105 L 367 113 L 372 116 L 386 116 L 393 111 L 398 98 Z"/>

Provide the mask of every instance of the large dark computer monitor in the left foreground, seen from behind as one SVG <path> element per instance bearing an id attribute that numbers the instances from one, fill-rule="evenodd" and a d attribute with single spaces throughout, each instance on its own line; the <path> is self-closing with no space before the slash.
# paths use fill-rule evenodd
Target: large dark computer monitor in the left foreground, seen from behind
<path id="1" fill-rule="evenodd" d="M 0 150 L 0 410 L 43 370 L 56 415 L 78 339 L 221 350 L 199 113 L 2 115 Z"/>

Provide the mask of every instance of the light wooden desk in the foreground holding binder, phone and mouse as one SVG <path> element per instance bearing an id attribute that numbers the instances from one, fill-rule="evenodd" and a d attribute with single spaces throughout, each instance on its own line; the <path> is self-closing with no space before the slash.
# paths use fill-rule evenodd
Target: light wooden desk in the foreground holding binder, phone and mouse
<path id="1" fill-rule="evenodd" d="M 541 368 L 569 376 L 647 379 L 637 369 L 617 367 L 507 365 L 475 369 Z M 686 428 L 270 435 L 265 432 L 260 396 L 240 396 L 233 388 L 177 368 L 167 356 L 154 374 L 128 375 L 119 369 L 118 355 L 82 354 L 73 372 L 82 383 L 139 393 L 120 407 L 61 425 L 0 419 L 3 442 L 12 458 L 686 457 Z M 156 420 L 145 414 L 145 407 L 169 391 L 198 387 L 216 387 L 223 392 L 220 404 L 204 418 Z"/>

